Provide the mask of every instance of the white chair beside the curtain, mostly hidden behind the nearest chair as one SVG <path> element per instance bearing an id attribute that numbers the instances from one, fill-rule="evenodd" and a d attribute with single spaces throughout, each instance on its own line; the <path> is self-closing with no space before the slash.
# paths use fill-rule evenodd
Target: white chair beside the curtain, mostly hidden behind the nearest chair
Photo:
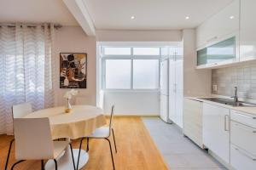
<path id="1" fill-rule="evenodd" d="M 32 105 L 30 103 L 24 103 L 24 104 L 12 106 L 13 119 L 22 118 L 30 113 L 32 113 Z M 9 143 L 9 151 L 8 151 L 8 155 L 7 155 L 7 158 L 5 161 L 5 167 L 4 167 L 5 170 L 7 170 L 7 167 L 8 167 L 9 155 L 10 155 L 10 151 L 12 149 L 12 145 L 13 145 L 14 141 L 15 141 L 15 139 L 12 139 Z"/>

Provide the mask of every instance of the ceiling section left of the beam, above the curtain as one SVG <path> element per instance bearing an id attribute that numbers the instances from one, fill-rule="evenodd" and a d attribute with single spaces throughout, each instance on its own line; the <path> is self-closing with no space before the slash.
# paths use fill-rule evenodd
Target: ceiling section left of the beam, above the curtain
<path id="1" fill-rule="evenodd" d="M 52 22 L 79 26 L 62 0 L 0 0 L 0 22 Z"/>

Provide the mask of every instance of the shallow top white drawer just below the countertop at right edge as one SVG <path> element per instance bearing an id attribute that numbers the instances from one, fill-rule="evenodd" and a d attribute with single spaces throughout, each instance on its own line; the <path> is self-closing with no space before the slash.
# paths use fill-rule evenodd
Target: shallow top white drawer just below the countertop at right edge
<path id="1" fill-rule="evenodd" d="M 231 120 L 256 128 L 256 116 L 235 110 L 230 110 L 230 113 Z"/>

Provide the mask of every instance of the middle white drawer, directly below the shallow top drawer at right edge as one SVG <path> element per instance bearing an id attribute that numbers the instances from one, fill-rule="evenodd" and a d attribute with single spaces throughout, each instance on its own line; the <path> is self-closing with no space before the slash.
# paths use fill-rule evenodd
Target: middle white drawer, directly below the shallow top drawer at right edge
<path id="1" fill-rule="evenodd" d="M 256 156 L 256 129 L 231 121 L 230 142 Z"/>

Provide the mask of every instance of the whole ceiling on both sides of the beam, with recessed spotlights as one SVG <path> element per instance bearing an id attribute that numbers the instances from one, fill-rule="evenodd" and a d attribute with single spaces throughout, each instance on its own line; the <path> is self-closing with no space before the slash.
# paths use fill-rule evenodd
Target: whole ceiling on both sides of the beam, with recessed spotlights
<path id="1" fill-rule="evenodd" d="M 83 0 L 96 30 L 193 28 L 232 0 Z M 0 0 L 0 22 L 79 26 L 62 0 Z M 134 15 L 135 20 L 131 20 Z M 189 20 L 185 17 L 189 16 Z"/>

